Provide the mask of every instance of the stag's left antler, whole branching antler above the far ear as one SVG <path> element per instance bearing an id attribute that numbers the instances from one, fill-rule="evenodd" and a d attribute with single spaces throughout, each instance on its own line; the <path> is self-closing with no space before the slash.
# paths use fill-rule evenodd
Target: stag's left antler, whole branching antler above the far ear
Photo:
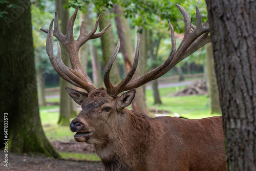
<path id="1" fill-rule="evenodd" d="M 79 62 L 78 51 L 79 51 L 80 47 L 88 40 L 95 39 L 95 38 L 102 36 L 104 34 L 104 32 L 106 31 L 106 29 L 108 29 L 110 27 L 110 24 L 108 26 L 106 26 L 101 32 L 95 33 L 98 28 L 98 21 L 100 18 L 100 15 L 99 15 L 92 32 L 90 32 L 89 34 L 84 34 L 83 22 L 82 22 L 81 27 L 80 27 L 79 37 L 77 38 L 77 40 L 74 40 L 73 27 L 74 27 L 74 22 L 75 22 L 75 18 L 77 15 L 77 11 L 78 11 L 78 7 L 76 7 L 75 12 L 69 19 L 66 35 L 63 35 L 59 29 L 57 12 L 55 12 L 54 30 L 52 30 L 53 20 L 50 24 L 49 30 L 43 29 L 43 28 L 41 28 L 40 30 L 48 33 L 47 41 L 46 41 L 46 51 L 50 58 L 52 66 L 56 70 L 56 72 L 65 80 L 69 81 L 70 83 L 72 83 L 73 85 L 75 85 L 77 87 L 80 87 L 80 88 L 86 90 L 89 93 L 90 91 L 92 91 L 93 89 L 96 89 L 96 88 L 93 86 L 93 83 L 92 83 L 91 79 L 89 78 L 89 76 L 82 69 L 82 66 Z M 57 57 L 54 56 L 54 54 L 53 54 L 53 36 L 55 36 L 66 47 L 73 69 L 65 66 L 65 64 L 61 60 L 61 50 L 60 50 L 60 46 L 58 43 L 57 43 L 58 44 Z"/>

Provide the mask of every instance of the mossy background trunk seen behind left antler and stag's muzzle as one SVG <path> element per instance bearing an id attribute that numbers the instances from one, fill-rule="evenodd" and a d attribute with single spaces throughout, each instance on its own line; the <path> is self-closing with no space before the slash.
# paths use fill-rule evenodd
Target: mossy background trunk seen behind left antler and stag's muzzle
<path id="1" fill-rule="evenodd" d="M 65 35 L 67 30 L 67 25 L 69 22 L 69 10 L 64 9 L 63 5 L 66 3 L 65 0 L 57 1 L 55 0 L 56 4 L 56 11 L 58 13 L 58 17 L 60 20 L 60 30 Z M 71 67 L 70 61 L 69 61 L 69 55 L 67 49 L 60 43 L 61 47 L 61 58 L 63 63 L 67 67 Z M 63 78 L 59 78 L 59 87 L 60 87 L 60 106 L 59 106 L 59 125 L 69 125 L 70 124 L 70 113 L 71 113 L 71 97 L 66 92 L 65 87 L 72 87 L 71 83 L 64 80 Z"/>

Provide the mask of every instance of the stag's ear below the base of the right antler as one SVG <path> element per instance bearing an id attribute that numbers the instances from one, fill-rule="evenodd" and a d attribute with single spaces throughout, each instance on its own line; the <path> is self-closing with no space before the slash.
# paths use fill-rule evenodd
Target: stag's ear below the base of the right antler
<path id="1" fill-rule="evenodd" d="M 136 93 L 136 90 L 133 89 L 133 90 L 130 90 L 129 92 L 123 93 L 120 97 L 118 97 L 116 100 L 117 111 L 121 111 L 126 106 L 129 106 L 134 99 L 135 93 Z"/>

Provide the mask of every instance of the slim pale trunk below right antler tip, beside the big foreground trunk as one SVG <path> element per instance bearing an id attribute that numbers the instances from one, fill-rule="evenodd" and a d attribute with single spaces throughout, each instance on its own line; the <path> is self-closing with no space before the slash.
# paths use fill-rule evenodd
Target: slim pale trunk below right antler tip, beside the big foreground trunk
<path id="1" fill-rule="evenodd" d="M 221 113 L 219 91 L 214 69 L 214 54 L 211 43 L 206 45 L 207 87 L 210 97 L 210 114 Z"/>

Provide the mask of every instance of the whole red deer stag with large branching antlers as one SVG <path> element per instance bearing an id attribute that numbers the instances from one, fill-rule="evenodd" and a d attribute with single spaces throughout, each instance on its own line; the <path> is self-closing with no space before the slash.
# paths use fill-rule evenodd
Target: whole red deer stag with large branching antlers
<path id="1" fill-rule="evenodd" d="M 201 14 L 196 8 L 197 27 L 191 24 L 188 12 L 176 5 L 184 17 L 184 38 L 176 50 L 174 29 L 169 23 L 172 49 L 168 58 L 156 69 L 131 80 L 138 64 L 139 37 L 135 59 L 130 72 L 116 85 L 110 82 L 110 70 L 119 50 L 116 49 L 104 71 L 105 88 L 96 88 L 78 59 L 79 48 L 89 39 L 100 37 L 106 29 L 95 33 L 95 27 L 89 34 L 83 33 L 83 23 L 77 40 L 73 38 L 73 26 L 77 15 L 76 8 L 71 16 L 67 34 L 59 30 L 58 15 L 55 13 L 48 29 L 46 50 L 52 66 L 58 74 L 86 90 L 80 92 L 66 87 L 69 95 L 82 107 L 82 111 L 71 121 L 70 130 L 76 132 L 78 142 L 93 144 L 101 158 L 105 170 L 225 170 L 224 135 L 222 118 L 182 119 L 176 117 L 149 118 L 125 107 L 130 105 L 135 88 L 164 75 L 182 59 L 195 52 L 210 41 L 208 23 L 202 24 Z M 67 48 L 73 69 L 64 65 L 61 50 L 53 54 L 53 35 Z M 123 93 L 118 96 L 119 93 Z"/>

